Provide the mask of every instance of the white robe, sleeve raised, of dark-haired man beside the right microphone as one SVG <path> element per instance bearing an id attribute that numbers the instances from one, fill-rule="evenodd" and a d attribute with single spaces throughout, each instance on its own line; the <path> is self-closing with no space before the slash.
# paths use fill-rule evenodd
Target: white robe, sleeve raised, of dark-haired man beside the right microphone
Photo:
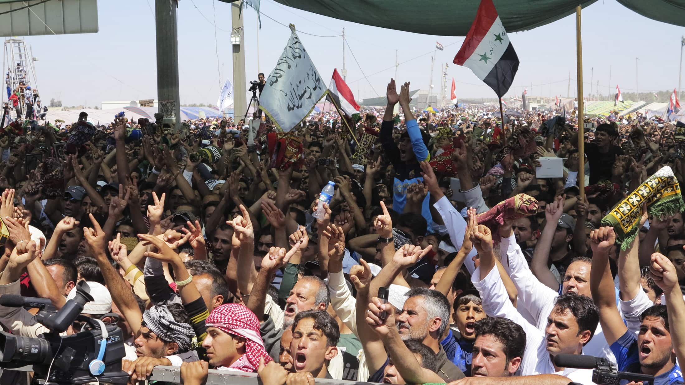
<path id="1" fill-rule="evenodd" d="M 545 332 L 528 323 L 509 300 L 506 288 L 499 276 L 497 267 L 490 270 L 483 280 L 480 278 L 480 267 L 475 269 L 471 281 L 483 299 L 483 309 L 488 317 L 511 319 L 525 331 L 525 352 L 521 360 L 521 375 L 558 374 L 568 377 L 579 384 L 593 384 L 593 371 L 590 369 L 564 368 L 556 371 L 547 351 Z"/>

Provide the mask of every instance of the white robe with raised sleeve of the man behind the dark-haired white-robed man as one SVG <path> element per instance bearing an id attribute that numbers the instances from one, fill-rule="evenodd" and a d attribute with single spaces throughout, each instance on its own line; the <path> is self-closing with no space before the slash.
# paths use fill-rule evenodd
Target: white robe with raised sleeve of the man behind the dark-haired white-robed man
<path id="1" fill-rule="evenodd" d="M 516 290 L 519 291 L 519 306 L 525 307 L 536 320 L 535 325 L 538 330 L 545 332 L 547 317 L 554 308 L 554 302 L 559 293 L 540 282 L 530 271 L 514 235 L 502 238 L 499 248 L 502 265 L 514 281 Z M 597 323 L 593 338 L 585 345 L 583 351 L 590 356 L 605 357 L 611 362 L 616 362 L 616 357 L 609 349 L 599 323 Z"/>

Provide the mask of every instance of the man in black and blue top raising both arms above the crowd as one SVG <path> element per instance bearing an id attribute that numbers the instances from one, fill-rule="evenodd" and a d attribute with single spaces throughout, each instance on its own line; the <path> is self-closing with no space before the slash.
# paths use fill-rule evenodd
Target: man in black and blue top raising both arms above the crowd
<path id="1" fill-rule="evenodd" d="M 395 167 L 395 178 L 393 181 L 393 210 L 398 213 L 404 211 L 407 203 L 407 187 L 412 183 L 423 181 L 421 177 L 420 161 L 429 161 L 430 152 L 427 148 L 430 135 L 419 129 L 419 124 L 412 114 L 409 107 L 409 83 L 404 83 L 399 95 L 395 89 L 395 79 L 391 79 L 386 90 L 388 106 L 386 107 L 383 123 L 381 124 L 380 140 L 386 152 L 386 157 L 390 159 Z M 406 133 L 400 137 L 399 146 L 393 140 L 393 109 L 399 102 L 404 112 L 404 120 L 407 126 Z M 421 215 L 426 218 L 428 224 L 431 222 L 428 194 L 423 200 Z M 430 228 L 429 228 L 430 231 Z"/>

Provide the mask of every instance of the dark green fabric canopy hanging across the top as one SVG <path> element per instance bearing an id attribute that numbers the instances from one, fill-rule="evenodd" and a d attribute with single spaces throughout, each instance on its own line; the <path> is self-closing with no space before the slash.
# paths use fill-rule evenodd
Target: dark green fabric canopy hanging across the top
<path id="1" fill-rule="evenodd" d="M 221 0 L 231 3 L 235 0 Z M 416 34 L 466 36 L 480 0 L 275 0 L 315 14 Z M 552 23 L 597 0 L 493 0 L 508 32 Z M 617 0 L 653 20 L 685 27 L 685 0 Z M 589 12 L 592 12 L 591 10 Z"/>

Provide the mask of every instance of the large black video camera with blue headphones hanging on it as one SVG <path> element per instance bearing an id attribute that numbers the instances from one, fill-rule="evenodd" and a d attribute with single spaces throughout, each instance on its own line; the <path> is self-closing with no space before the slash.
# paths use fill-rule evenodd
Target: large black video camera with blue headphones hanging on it
<path id="1" fill-rule="evenodd" d="M 85 282 L 79 282 L 74 299 L 67 300 L 60 311 L 44 298 L 2 295 L 3 306 L 40 309 L 36 321 L 50 332 L 38 338 L 0 332 L 0 368 L 33 365 L 33 384 L 40 385 L 126 384 L 129 376 L 121 370 L 125 356 L 121 329 L 80 314 L 84 304 L 93 300 L 89 292 Z M 75 320 L 88 323 L 92 329 L 60 336 Z"/>

